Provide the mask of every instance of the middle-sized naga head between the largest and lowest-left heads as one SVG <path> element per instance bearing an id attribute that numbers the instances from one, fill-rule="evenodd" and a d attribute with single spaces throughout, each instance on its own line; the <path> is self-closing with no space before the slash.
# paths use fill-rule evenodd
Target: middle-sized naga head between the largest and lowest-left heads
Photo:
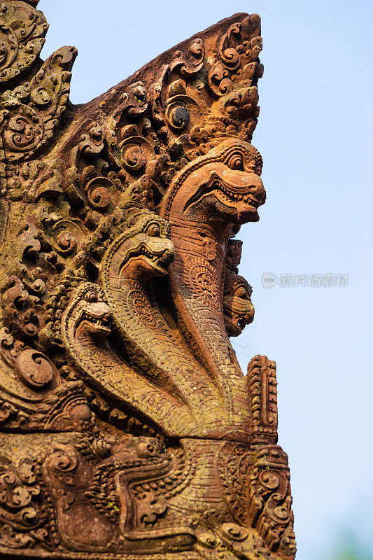
<path id="1" fill-rule="evenodd" d="M 104 257 L 104 263 L 110 263 L 110 274 L 127 279 L 163 276 L 173 260 L 169 223 L 146 209 L 127 220 L 125 231 Z"/>

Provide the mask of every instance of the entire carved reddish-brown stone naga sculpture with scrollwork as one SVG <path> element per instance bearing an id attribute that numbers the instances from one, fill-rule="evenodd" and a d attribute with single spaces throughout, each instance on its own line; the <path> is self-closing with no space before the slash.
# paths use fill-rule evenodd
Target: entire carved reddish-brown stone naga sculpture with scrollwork
<path id="1" fill-rule="evenodd" d="M 72 106 L 37 3 L 0 3 L 0 558 L 293 559 L 275 364 L 229 338 L 260 19 Z"/>

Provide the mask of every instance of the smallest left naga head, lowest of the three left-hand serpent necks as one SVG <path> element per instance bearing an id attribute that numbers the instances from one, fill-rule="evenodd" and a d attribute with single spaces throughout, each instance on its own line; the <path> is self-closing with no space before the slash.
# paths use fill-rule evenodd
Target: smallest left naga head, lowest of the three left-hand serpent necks
<path id="1" fill-rule="evenodd" d="M 106 337 L 111 333 L 111 309 L 99 286 L 84 283 L 74 297 L 74 335 L 85 330 L 92 337 Z"/>

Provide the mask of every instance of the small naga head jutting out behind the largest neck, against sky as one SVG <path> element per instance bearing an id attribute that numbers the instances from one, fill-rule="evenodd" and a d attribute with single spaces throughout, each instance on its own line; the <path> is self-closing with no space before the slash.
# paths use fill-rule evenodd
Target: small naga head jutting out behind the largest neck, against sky
<path id="1" fill-rule="evenodd" d="M 223 295 L 225 329 L 230 337 L 238 337 L 253 322 L 255 309 L 251 302 L 252 288 L 243 276 L 227 274 Z"/>

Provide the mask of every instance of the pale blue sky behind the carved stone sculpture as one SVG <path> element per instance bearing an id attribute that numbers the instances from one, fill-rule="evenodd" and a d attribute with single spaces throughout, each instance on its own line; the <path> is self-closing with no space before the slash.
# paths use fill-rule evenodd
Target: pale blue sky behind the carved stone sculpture
<path id="1" fill-rule="evenodd" d="M 373 527 L 372 18 L 370 1 L 41 0 L 46 57 L 75 45 L 71 100 L 87 102 L 236 12 L 262 17 L 265 75 L 253 144 L 267 203 L 242 228 L 255 321 L 234 340 L 244 370 L 276 360 L 297 560 L 331 560 Z M 349 274 L 346 287 L 262 286 L 262 274 Z M 373 554 L 366 542 L 365 554 Z M 369 548 L 371 547 L 371 548 Z"/>

